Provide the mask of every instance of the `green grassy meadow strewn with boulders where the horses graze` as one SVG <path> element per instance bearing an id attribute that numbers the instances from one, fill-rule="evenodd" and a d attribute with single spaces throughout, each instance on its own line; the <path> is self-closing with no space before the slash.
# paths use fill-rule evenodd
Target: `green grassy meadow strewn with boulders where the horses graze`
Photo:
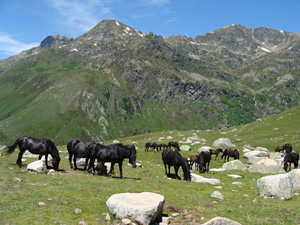
<path id="1" fill-rule="evenodd" d="M 252 147 L 266 147 L 274 151 L 276 145 L 290 142 L 299 152 L 300 113 L 299 107 L 284 113 L 263 118 L 260 122 L 232 127 L 224 130 L 208 132 L 196 131 L 164 131 L 146 135 L 119 139 L 124 144 L 136 143 L 137 162 L 142 167 L 128 166 L 124 162 L 123 175 L 119 179 L 118 167 L 115 167 L 113 178 L 90 175 L 85 171 L 73 171 L 68 162 L 66 146 L 59 146 L 62 158 L 60 169 L 54 175 L 29 173 L 15 163 L 18 150 L 12 155 L 0 157 L 0 224 L 116 224 L 119 219 L 111 215 L 105 220 L 107 199 L 116 193 L 154 192 L 165 197 L 165 207 L 174 206 L 179 216 L 171 218 L 171 224 L 201 224 L 209 219 L 221 216 L 235 220 L 241 224 L 299 224 L 300 196 L 291 200 L 263 198 L 256 189 L 257 179 L 265 176 L 242 171 L 207 172 L 206 178 L 221 180 L 222 189 L 214 185 L 186 182 L 169 179 L 164 174 L 161 152 L 145 152 L 144 145 L 148 141 L 157 141 L 160 137 L 172 136 L 175 141 L 197 134 L 206 139 L 206 143 L 192 145 L 189 152 L 181 152 L 184 157 L 197 154 L 199 147 L 212 146 L 214 140 L 221 137 L 231 139 L 240 151 L 245 144 Z M 168 140 L 162 141 L 167 143 Z M 112 140 L 104 142 L 110 144 Z M 13 143 L 1 143 L 13 144 Z M 181 144 L 182 145 L 182 144 Z M 5 152 L 4 149 L 1 150 Z M 26 158 L 24 164 L 34 159 Z M 231 159 L 232 160 L 232 159 Z M 241 158 L 246 163 L 246 159 Z M 210 168 L 220 168 L 222 160 L 211 161 Z M 172 172 L 174 170 L 172 168 Z M 194 173 L 199 174 L 194 171 Z M 230 178 L 228 174 L 241 175 L 242 178 Z M 182 176 L 182 170 L 179 170 Z M 15 178 L 19 178 L 16 181 Z M 239 181 L 242 185 L 234 185 Z M 210 195 L 219 190 L 224 200 L 216 200 Z M 299 193 L 299 191 L 298 191 Z M 39 203 L 43 202 L 44 205 Z M 74 209 L 82 212 L 75 214 Z M 164 210 L 165 216 L 173 212 Z"/>

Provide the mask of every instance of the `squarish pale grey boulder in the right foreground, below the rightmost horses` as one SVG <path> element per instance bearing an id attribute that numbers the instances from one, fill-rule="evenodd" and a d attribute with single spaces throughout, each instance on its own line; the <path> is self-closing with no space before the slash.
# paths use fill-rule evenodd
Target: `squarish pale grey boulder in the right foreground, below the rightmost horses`
<path id="1" fill-rule="evenodd" d="M 257 180 L 257 190 L 261 196 L 275 197 L 281 200 L 293 197 L 293 183 L 289 174 L 265 176 Z"/>

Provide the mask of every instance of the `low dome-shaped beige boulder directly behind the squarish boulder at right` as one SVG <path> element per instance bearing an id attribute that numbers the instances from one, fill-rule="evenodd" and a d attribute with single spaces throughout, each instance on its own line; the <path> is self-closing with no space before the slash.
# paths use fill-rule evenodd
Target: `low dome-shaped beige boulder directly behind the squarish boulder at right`
<path id="1" fill-rule="evenodd" d="M 250 173 L 276 174 L 285 173 L 283 168 L 273 159 L 262 159 L 248 168 Z"/>

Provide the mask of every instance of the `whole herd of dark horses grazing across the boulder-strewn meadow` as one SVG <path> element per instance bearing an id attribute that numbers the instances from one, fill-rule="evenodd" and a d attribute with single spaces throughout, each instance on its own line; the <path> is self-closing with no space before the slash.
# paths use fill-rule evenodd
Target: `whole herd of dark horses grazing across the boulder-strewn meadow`
<path id="1" fill-rule="evenodd" d="M 33 137 L 20 137 L 16 140 L 16 142 L 7 146 L 7 153 L 12 154 L 15 149 L 19 146 L 20 152 L 17 159 L 17 165 L 22 167 L 22 156 L 26 150 L 31 152 L 32 154 L 38 154 L 39 159 L 42 156 L 45 156 L 45 164 L 47 168 L 48 166 L 48 155 L 52 156 L 52 165 L 55 170 L 59 170 L 59 151 L 54 144 L 53 141 L 49 139 L 37 139 Z M 174 147 L 172 149 L 171 147 Z M 165 174 L 166 176 L 170 176 L 170 167 L 174 167 L 175 170 L 175 178 L 181 179 L 178 176 L 178 170 L 181 167 L 183 170 L 184 180 L 191 180 L 191 172 L 193 165 L 195 164 L 195 169 L 199 171 L 199 173 L 204 173 L 205 171 L 209 171 L 209 164 L 211 161 L 211 156 L 216 155 L 215 160 L 218 158 L 218 155 L 222 153 L 221 159 L 224 158 L 224 162 L 229 161 L 229 157 L 234 158 L 235 160 L 239 159 L 239 151 L 237 149 L 209 149 L 209 151 L 201 151 L 198 155 L 192 155 L 189 159 L 184 158 L 179 153 L 180 147 L 177 142 L 169 142 L 168 144 L 156 144 L 155 142 L 148 142 L 145 144 L 145 151 L 148 151 L 149 148 L 154 150 L 161 150 L 162 152 L 162 160 L 165 166 Z M 72 140 L 67 144 L 67 149 L 69 153 L 69 162 L 71 169 L 77 169 L 76 161 L 78 158 L 85 158 L 85 166 L 84 170 L 87 169 L 89 172 L 97 172 L 99 175 L 107 175 L 107 169 L 105 166 L 105 162 L 110 162 L 111 167 L 108 175 L 111 177 L 114 171 L 114 164 L 118 163 L 120 178 L 123 178 L 122 173 L 122 164 L 125 158 L 129 159 L 129 163 L 133 168 L 136 167 L 136 148 L 134 145 L 123 145 L 119 144 L 111 144 L 104 145 L 101 143 L 95 142 L 85 142 L 79 140 Z M 283 146 L 279 146 L 275 148 L 275 151 L 280 149 L 280 151 L 285 151 L 285 157 L 283 159 L 284 169 L 287 171 L 291 170 L 291 164 L 294 164 L 294 168 L 298 168 L 299 155 L 297 152 L 293 151 L 292 145 L 286 143 Z M 95 167 L 95 160 L 97 160 L 97 166 Z M 73 163 L 72 163 L 73 161 Z M 74 164 L 74 167 L 73 167 Z M 168 171 L 167 171 L 168 167 Z"/>

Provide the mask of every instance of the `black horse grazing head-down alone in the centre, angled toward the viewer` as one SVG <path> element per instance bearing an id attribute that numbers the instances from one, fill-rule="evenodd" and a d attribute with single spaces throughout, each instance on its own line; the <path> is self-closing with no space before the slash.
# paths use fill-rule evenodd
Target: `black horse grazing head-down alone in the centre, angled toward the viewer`
<path id="1" fill-rule="evenodd" d="M 184 180 L 189 180 L 189 181 L 191 180 L 191 172 L 188 163 L 186 162 L 186 160 L 184 160 L 184 158 L 179 154 L 178 151 L 174 151 L 172 149 L 165 149 L 162 152 L 162 160 L 165 165 L 166 176 L 170 175 L 170 167 L 174 166 L 175 177 L 176 179 L 180 180 L 181 178 L 178 176 L 178 169 L 179 167 L 181 167 L 183 171 Z M 169 168 L 168 174 L 167 174 L 167 165 Z"/>

